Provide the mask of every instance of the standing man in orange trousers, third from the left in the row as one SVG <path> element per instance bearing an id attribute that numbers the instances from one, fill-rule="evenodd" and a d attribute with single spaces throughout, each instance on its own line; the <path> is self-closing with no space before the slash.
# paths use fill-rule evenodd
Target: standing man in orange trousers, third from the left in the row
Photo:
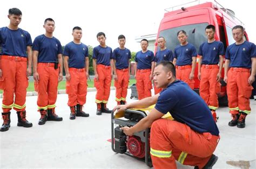
<path id="1" fill-rule="evenodd" d="M 81 43 L 83 36 L 79 26 L 73 28 L 73 41 L 64 47 L 64 68 L 66 73 L 66 94 L 69 95 L 70 119 L 76 116 L 89 117 L 83 111 L 86 102 L 87 78 L 89 76 L 88 47 Z"/>

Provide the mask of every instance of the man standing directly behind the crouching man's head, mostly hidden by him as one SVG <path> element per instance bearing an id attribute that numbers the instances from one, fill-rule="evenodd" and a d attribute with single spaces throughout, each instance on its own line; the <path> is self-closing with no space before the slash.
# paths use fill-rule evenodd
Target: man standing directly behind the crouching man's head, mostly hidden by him
<path id="1" fill-rule="evenodd" d="M 173 53 L 171 50 L 167 49 L 165 46 L 165 38 L 164 37 L 158 37 L 157 38 L 157 45 L 159 47 L 159 50 L 156 52 L 156 64 L 158 64 L 160 61 L 166 60 L 166 61 L 173 61 Z M 154 94 L 160 93 L 161 88 L 157 88 L 156 84 L 154 84 Z"/>

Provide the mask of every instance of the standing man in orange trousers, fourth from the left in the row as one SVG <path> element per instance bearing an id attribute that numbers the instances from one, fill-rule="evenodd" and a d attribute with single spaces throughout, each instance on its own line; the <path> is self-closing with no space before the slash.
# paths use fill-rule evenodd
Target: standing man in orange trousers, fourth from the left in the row
<path id="1" fill-rule="evenodd" d="M 105 33 L 97 34 L 99 46 L 93 48 L 93 70 L 95 73 L 94 85 L 97 89 L 95 102 L 97 104 L 96 115 L 102 115 L 102 112 L 111 113 L 106 107 L 110 95 L 110 86 L 112 79 L 112 48 L 106 46 Z"/>

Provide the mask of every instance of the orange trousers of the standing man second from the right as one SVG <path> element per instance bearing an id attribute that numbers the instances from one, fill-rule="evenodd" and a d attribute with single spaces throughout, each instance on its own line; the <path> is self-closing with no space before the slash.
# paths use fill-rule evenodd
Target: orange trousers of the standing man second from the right
<path id="1" fill-rule="evenodd" d="M 220 91 L 220 83 L 217 82 L 218 65 L 202 65 L 199 93 L 208 107 L 216 110 L 219 107 L 217 92 Z"/>

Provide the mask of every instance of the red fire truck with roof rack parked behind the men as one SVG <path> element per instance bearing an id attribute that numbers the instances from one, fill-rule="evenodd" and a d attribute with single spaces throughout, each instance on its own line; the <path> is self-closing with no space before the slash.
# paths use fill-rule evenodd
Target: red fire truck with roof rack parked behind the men
<path id="1" fill-rule="evenodd" d="M 183 4 L 184 5 L 184 4 Z M 181 6 L 181 5 L 179 5 Z M 241 21 L 234 16 L 232 10 L 226 9 L 221 6 L 218 2 L 207 2 L 203 4 L 198 4 L 190 6 L 188 8 L 181 7 L 178 10 L 173 10 L 177 6 L 166 9 L 164 18 L 160 22 L 157 37 L 164 37 L 166 39 L 166 47 L 169 50 L 174 51 L 174 48 L 179 45 L 177 39 L 177 32 L 180 30 L 185 30 L 187 33 L 188 43 L 193 44 L 197 51 L 199 46 L 207 41 L 205 36 L 205 27 L 208 24 L 212 24 L 216 28 L 215 39 L 220 40 L 224 43 L 225 50 L 229 44 L 233 44 L 235 41 L 232 37 L 232 27 L 235 25 L 243 25 Z M 171 9 L 171 10 L 170 10 Z M 247 34 L 245 33 L 246 40 L 248 40 Z M 157 44 L 155 51 L 157 49 Z M 198 66 L 195 70 L 194 80 L 195 90 L 199 93 L 199 83 L 197 78 Z M 224 69 L 222 71 L 224 77 Z M 221 82 L 221 90 L 218 93 L 219 103 L 222 105 L 227 105 L 227 95 L 226 95 L 226 83 Z"/>

